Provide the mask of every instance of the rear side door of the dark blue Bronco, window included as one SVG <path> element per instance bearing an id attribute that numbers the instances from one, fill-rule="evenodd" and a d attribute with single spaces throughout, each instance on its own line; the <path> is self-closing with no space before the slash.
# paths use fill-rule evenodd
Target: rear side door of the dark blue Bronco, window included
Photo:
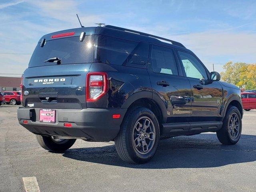
<path id="1" fill-rule="evenodd" d="M 178 58 L 172 48 L 150 45 L 148 72 L 154 94 L 167 106 L 167 123 L 188 122 L 191 115 L 191 88 L 182 76 Z M 184 126 L 188 130 L 189 126 Z"/>

